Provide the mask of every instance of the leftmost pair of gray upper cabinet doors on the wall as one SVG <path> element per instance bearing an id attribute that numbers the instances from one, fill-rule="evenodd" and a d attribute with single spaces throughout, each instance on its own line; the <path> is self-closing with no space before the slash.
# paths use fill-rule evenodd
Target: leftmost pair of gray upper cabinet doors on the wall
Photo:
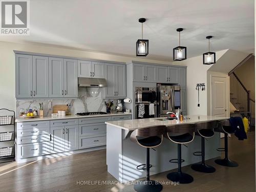
<path id="1" fill-rule="evenodd" d="M 49 97 L 48 68 L 48 57 L 16 54 L 16 98 Z"/>

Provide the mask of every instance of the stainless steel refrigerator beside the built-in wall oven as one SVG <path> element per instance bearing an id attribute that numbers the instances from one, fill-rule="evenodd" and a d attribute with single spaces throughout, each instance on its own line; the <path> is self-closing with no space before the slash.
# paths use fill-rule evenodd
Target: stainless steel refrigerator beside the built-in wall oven
<path id="1" fill-rule="evenodd" d="M 167 112 L 176 113 L 181 109 L 180 86 L 157 83 L 157 117 L 169 116 Z"/>

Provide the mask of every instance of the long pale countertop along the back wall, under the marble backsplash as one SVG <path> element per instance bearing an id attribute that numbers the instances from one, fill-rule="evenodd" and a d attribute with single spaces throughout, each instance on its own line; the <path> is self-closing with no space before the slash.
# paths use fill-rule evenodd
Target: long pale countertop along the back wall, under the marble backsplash
<path id="1" fill-rule="evenodd" d="M 23 118 L 17 117 L 15 122 L 28 122 L 28 121 L 47 121 L 47 120 L 59 120 L 59 119 L 75 119 L 75 118 L 89 118 L 89 117 L 104 117 L 104 116 L 116 116 L 116 115 L 132 115 L 132 113 L 108 113 L 102 115 L 66 115 L 63 117 L 55 117 L 52 118 L 51 116 L 48 117 L 36 117 L 36 118 Z"/>

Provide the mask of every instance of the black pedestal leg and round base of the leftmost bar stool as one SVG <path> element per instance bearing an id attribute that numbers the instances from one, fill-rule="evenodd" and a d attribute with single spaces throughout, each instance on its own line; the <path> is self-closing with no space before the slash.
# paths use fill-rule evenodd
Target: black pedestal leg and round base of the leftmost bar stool
<path id="1" fill-rule="evenodd" d="M 158 192 L 163 189 L 160 183 L 150 180 L 150 148 L 146 148 L 146 180 L 137 181 L 134 189 L 138 192 Z"/>

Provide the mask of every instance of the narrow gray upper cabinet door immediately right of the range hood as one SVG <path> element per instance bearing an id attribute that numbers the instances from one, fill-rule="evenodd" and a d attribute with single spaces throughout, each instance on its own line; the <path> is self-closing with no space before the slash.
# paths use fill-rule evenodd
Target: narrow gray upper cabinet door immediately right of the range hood
<path id="1" fill-rule="evenodd" d="M 112 64 L 105 64 L 105 79 L 107 87 L 104 89 L 103 97 L 115 97 L 116 96 L 116 66 Z"/>

